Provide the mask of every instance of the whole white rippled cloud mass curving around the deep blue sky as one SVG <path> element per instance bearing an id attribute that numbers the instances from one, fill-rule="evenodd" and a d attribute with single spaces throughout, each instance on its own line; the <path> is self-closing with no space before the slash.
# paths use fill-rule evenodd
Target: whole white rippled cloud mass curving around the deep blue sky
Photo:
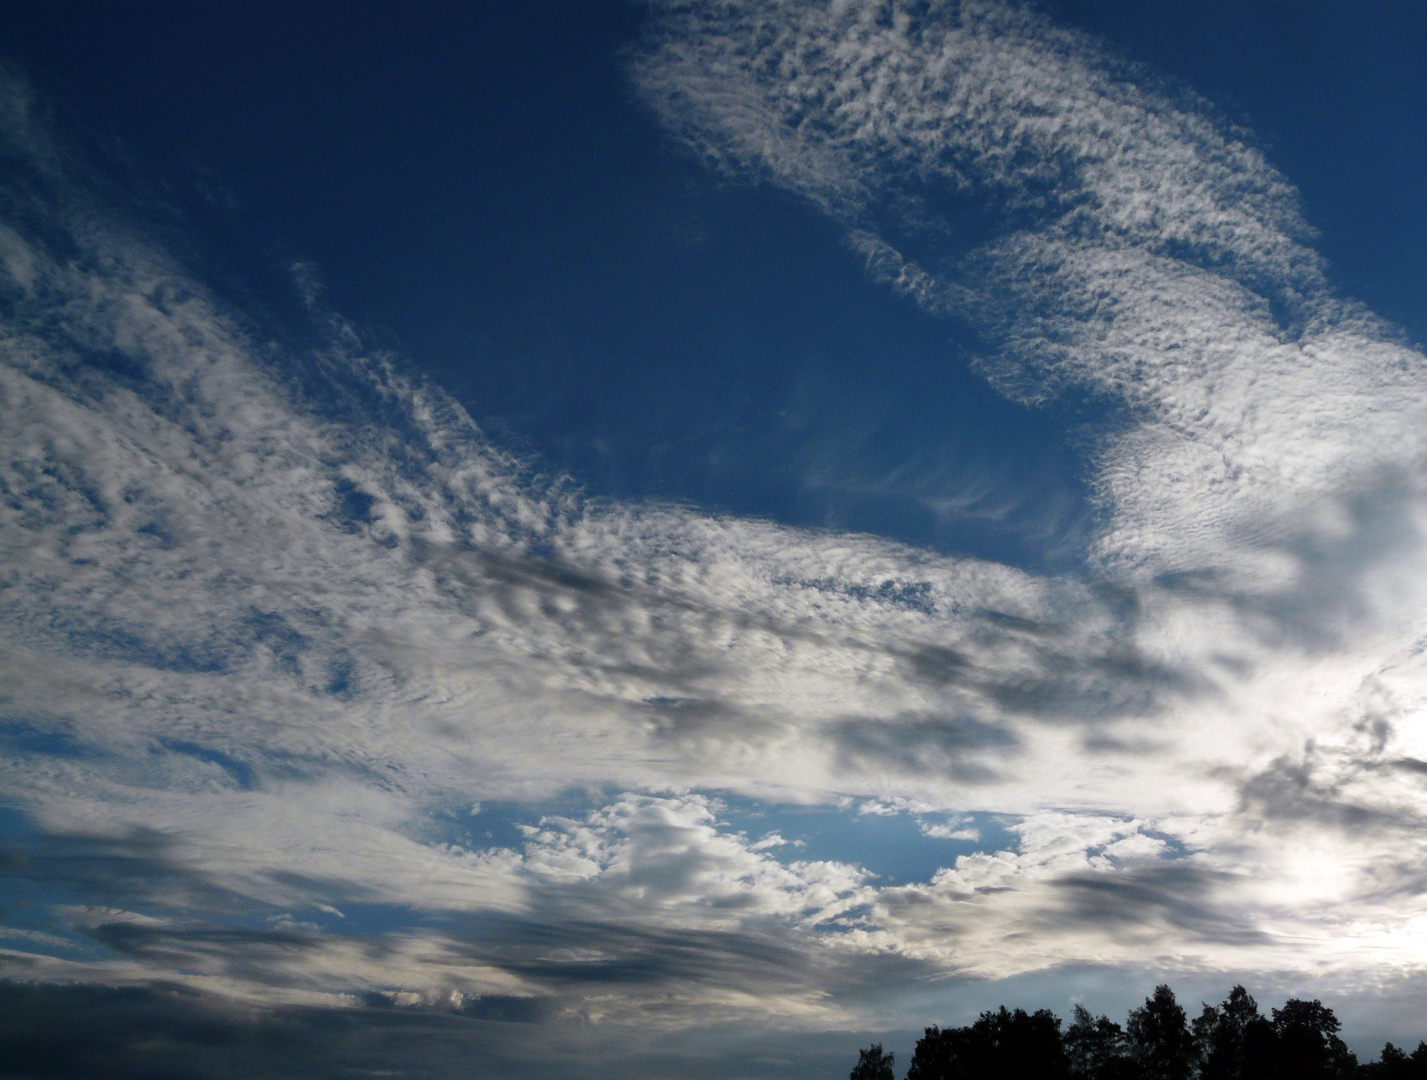
<path id="1" fill-rule="evenodd" d="M 1073 964 L 1418 973 L 1427 371 L 1290 183 L 1016 7 L 671 3 L 634 78 L 1005 394 L 1104 405 L 1087 564 L 586 498 L 311 291 L 311 347 L 234 310 L 10 74 L 0 793 L 44 915 L 0 976 L 829 1027 Z M 738 800 L 969 846 L 890 882 Z"/>

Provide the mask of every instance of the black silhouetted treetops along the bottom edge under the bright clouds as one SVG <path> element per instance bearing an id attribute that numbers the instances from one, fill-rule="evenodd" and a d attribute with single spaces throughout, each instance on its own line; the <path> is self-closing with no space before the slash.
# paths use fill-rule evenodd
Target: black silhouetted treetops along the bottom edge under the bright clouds
<path id="1" fill-rule="evenodd" d="M 850 1080 L 896 1080 L 893 1056 L 873 1043 Z M 1360 1064 L 1321 1002 L 1290 999 L 1259 1012 L 1236 986 L 1190 1022 L 1167 986 L 1154 987 L 1124 1026 L 1075 1007 L 1069 1027 L 1049 1009 L 982 1013 L 966 1027 L 928 1027 L 906 1080 L 1427 1080 L 1427 1043 L 1391 1043 Z"/>

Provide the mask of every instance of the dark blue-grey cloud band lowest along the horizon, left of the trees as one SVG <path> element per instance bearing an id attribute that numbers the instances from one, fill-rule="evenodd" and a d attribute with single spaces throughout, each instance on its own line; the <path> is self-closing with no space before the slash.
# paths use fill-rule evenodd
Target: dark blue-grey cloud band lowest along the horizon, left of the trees
<path id="1" fill-rule="evenodd" d="M 515 1009 L 515 1016 L 499 1016 Z M 489 1012 L 491 1016 L 482 1013 Z M 80 1033 L 77 1036 L 77 1033 Z M 568 1024 L 552 1031 L 492 999 L 458 1012 L 234 1009 L 174 987 L 0 982 L 6 1080 L 651 1080 L 838 1074 L 860 1033 L 731 1030 L 681 1039 Z"/>

